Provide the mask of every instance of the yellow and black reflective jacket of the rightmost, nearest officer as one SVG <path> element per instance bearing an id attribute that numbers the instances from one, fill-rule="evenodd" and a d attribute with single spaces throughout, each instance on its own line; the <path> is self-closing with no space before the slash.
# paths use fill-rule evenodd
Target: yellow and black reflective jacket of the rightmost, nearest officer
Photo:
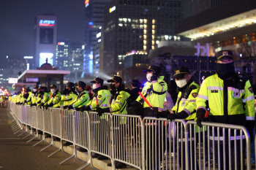
<path id="1" fill-rule="evenodd" d="M 245 125 L 246 120 L 255 120 L 255 96 L 249 80 L 238 75 L 225 81 L 218 74 L 207 77 L 197 96 L 197 109 L 207 107 L 211 109 L 210 122 Z"/>

